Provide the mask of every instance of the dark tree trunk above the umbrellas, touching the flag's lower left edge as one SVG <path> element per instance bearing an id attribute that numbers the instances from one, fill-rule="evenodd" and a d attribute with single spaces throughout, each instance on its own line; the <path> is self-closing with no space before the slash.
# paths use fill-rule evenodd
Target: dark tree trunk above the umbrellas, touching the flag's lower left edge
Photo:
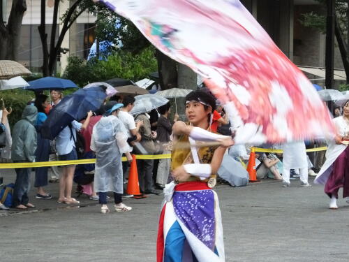
<path id="1" fill-rule="evenodd" d="M 162 90 L 177 87 L 177 62 L 159 50 L 155 52 L 158 60 L 158 77 Z"/>

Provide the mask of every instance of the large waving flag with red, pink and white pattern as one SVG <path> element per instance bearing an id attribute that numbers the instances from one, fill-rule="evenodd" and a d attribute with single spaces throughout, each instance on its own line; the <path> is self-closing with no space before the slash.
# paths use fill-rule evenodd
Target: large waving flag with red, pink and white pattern
<path id="1" fill-rule="evenodd" d="M 224 104 L 236 143 L 334 133 L 329 112 L 295 64 L 238 0 L 101 0 L 148 40 L 202 75 Z"/>

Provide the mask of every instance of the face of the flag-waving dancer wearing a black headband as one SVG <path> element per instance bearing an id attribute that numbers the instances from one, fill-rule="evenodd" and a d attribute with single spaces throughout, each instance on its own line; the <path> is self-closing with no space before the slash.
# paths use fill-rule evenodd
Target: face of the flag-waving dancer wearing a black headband
<path id="1" fill-rule="evenodd" d="M 186 118 L 193 126 L 198 126 L 199 124 L 207 123 L 207 115 L 211 113 L 211 106 L 205 109 L 202 103 L 196 101 L 190 101 L 186 103 Z"/>

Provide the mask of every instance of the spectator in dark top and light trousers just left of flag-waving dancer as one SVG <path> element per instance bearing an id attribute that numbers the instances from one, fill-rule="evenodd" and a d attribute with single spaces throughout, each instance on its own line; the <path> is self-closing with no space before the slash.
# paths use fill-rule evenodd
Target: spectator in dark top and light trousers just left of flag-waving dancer
<path id="1" fill-rule="evenodd" d="M 170 135 L 172 134 L 172 124 L 168 119 L 170 115 L 170 102 L 158 108 L 158 112 L 161 114 L 158 117 L 158 126 L 156 133 L 158 134 L 157 140 L 161 146 L 162 154 L 170 154 L 169 150 L 165 150 L 163 145 L 170 142 Z M 177 122 L 179 115 L 174 115 L 173 122 Z M 158 172 L 156 175 L 156 186 L 160 189 L 165 187 L 168 182 L 168 175 L 170 174 L 171 159 L 160 159 L 158 163 Z"/>

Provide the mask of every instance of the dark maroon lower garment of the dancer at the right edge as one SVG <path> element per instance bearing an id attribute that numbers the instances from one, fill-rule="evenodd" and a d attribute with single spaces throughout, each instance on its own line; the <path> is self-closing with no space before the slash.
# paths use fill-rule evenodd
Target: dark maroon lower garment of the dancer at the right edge
<path id="1" fill-rule="evenodd" d="M 343 187 L 343 198 L 349 196 L 349 146 L 333 163 L 332 173 L 325 184 L 325 193 L 338 198 L 338 191 Z"/>

